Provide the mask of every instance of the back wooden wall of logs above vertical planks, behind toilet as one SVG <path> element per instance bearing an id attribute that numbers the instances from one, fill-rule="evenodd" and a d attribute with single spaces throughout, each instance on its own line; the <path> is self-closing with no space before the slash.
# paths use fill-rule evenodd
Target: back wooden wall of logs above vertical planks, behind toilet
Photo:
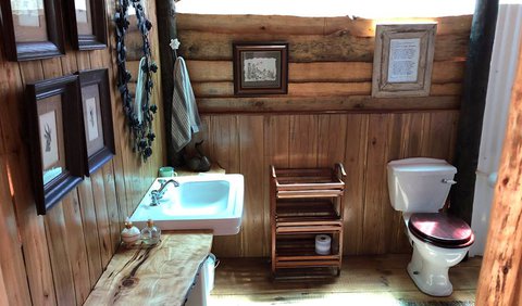
<path id="1" fill-rule="evenodd" d="M 348 173 L 345 254 L 410 252 L 388 200 L 386 164 L 451 161 L 471 16 L 436 18 L 432 93 L 373 99 L 376 21 L 348 17 L 178 14 L 181 53 L 210 157 L 246 179 L 241 231 L 216 237 L 220 256 L 269 256 L 269 165 L 332 166 Z M 289 92 L 233 94 L 233 41 L 288 41 Z"/>

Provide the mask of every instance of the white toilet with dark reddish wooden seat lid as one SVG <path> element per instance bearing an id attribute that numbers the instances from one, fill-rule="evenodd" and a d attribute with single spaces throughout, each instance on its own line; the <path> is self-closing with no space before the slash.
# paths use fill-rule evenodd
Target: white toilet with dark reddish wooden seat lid
<path id="1" fill-rule="evenodd" d="M 457 169 L 443 160 L 406 158 L 388 163 L 391 206 L 402 212 L 413 255 L 408 265 L 417 286 L 434 296 L 450 295 L 448 269 L 462 260 L 474 235 L 457 217 L 438 213 Z"/>

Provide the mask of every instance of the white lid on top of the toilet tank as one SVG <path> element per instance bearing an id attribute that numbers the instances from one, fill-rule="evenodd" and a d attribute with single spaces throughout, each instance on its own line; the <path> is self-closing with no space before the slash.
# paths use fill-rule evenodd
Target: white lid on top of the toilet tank
<path id="1" fill-rule="evenodd" d="M 426 157 L 391 161 L 388 163 L 388 169 L 394 173 L 457 173 L 457 168 L 448 162 Z"/>

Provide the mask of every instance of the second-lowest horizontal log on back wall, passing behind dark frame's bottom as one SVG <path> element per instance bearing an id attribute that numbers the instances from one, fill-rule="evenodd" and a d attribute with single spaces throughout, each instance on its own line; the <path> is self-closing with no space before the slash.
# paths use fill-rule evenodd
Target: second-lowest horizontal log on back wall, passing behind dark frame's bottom
<path id="1" fill-rule="evenodd" d="M 234 97 L 232 81 L 192 82 L 196 98 Z M 432 84 L 430 95 L 460 95 L 460 82 Z M 371 81 L 361 82 L 290 82 L 289 97 L 370 95 Z M 277 95 L 272 95 L 277 97 Z"/>

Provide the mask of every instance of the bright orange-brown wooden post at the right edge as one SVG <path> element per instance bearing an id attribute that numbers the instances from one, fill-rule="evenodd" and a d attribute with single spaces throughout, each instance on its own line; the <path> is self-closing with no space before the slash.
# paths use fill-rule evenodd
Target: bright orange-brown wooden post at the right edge
<path id="1" fill-rule="evenodd" d="M 502 156 L 495 188 L 489 232 L 476 292 L 476 305 L 522 303 L 522 48 Z"/>

